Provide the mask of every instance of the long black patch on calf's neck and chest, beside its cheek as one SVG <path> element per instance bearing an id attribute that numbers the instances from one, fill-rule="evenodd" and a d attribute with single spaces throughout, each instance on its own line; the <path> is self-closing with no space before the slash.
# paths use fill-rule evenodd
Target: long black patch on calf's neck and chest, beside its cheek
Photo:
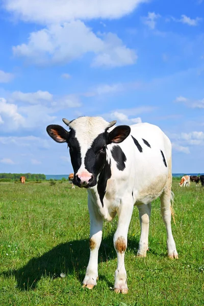
<path id="1" fill-rule="evenodd" d="M 97 191 L 99 194 L 100 202 L 102 207 L 104 207 L 104 196 L 106 193 L 107 181 L 111 177 L 111 162 L 110 164 L 106 162 L 103 170 L 100 172 L 98 177 Z"/>

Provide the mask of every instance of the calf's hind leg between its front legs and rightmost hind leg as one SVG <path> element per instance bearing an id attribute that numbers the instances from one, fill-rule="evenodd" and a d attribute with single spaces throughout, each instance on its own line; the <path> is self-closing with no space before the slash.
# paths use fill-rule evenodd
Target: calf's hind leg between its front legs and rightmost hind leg
<path id="1" fill-rule="evenodd" d="M 151 203 L 141 204 L 137 206 L 140 217 L 141 235 L 137 251 L 137 256 L 146 257 L 148 249 L 148 235 L 149 235 L 149 220 L 151 214 Z"/>

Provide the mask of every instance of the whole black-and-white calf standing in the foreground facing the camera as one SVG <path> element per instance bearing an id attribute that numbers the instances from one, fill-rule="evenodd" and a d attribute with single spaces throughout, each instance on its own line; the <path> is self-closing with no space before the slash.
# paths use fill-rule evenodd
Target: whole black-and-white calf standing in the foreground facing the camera
<path id="1" fill-rule="evenodd" d="M 141 226 L 137 256 L 146 257 L 151 201 L 160 197 L 168 257 L 178 258 L 171 231 L 171 142 L 158 126 L 149 123 L 114 127 L 116 121 L 107 122 L 101 117 L 62 120 L 69 131 L 55 124 L 46 130 L 56 142 L 67 143 L 73 184 L 88 191 L 90 258 L 83 287 L 93 289 L 98 279 L 103 219 L 112 221 L 118 214 L 113 237 L 117 253 L 114 291 L 126 294 L 124 254 L 134 205 L 139 210 Z"/>

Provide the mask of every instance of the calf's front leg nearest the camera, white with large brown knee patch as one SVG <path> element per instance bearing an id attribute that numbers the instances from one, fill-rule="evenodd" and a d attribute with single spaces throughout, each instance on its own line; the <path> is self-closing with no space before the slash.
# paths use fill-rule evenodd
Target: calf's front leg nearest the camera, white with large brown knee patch
<path id="1" fill-rule="evenodd" d="M 117 269 L 115 271 L 114 291 L 126 294 L 128 292 L 126 281 L 126 270 L 124 266 L 124 253 L 127 247 L 127 232 L 129 229 L 132 213 L 133 200 L 129 203 L 121 203 L 118 210 L 118 225 L 115 232 L 113 243 L 117 252 Z"/>

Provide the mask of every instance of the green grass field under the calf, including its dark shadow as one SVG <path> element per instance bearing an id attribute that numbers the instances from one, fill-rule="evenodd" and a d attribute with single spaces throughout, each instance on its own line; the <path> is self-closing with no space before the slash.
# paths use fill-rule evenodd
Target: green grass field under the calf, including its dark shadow
<path id="1" fill-rule="evenodd" d="M 179 260 L 166 257 L 159 200 L 152 203 L 147 257 L 136 257 L 140 225 L 134 209 L 125 254 L 129 294 L 117 295 L 112 289 L 117 218 L 104 222 L 97 286 L 82 289 L 89 259 L 87 193 L 70 187 L 0 184 L 1 306 L 204 304 L 204 188 L 173 182 Z"/>

